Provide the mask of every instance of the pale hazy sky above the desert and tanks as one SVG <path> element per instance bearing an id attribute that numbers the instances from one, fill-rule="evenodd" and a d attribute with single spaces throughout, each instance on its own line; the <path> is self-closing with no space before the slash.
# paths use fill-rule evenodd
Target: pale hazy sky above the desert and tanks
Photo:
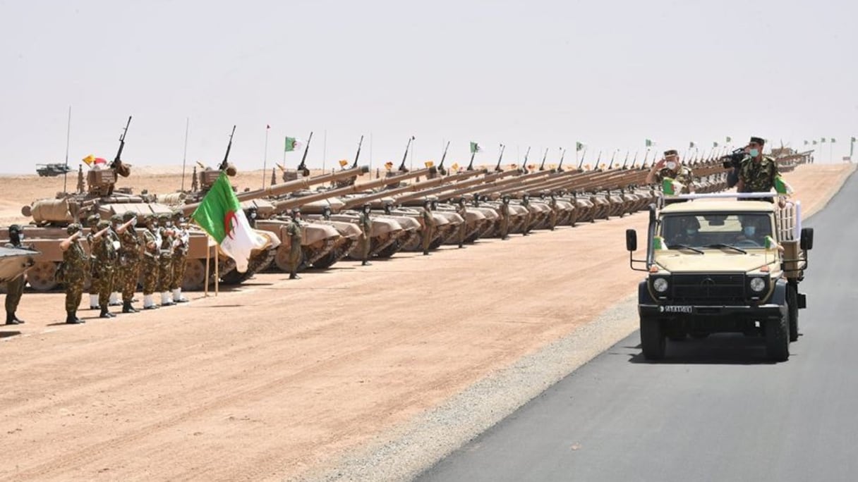
<path id="1" fill-rule="evenodd" d="M 237 124 L 239 169 L 308 164 L 505 164 L 532 146 L 644 155 L 764 136 L 801 146 L 858 136 L 858 2 L 0 0 L 0 172 L 65 156 L 215 164 Z M 327 142 L 323 142 L 327 132 Z M 539 153 L 539 154 L 536 154 Z M 818 155 L 828 160 L 825 144 Z M 301 153 L 287 154 L 287 166 Z M 410 160 L 410 158 L 409 158 Z"/>

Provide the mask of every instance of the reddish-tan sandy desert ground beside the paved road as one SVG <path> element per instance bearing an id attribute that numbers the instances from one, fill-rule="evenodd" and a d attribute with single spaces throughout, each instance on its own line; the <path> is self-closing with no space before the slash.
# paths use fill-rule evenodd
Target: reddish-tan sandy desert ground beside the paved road
<path id="1" fill-rule="evenodd" d="M 788 179 L 809 214 L 852 169 L 801 166 Z M 178 179 L 139 178 L 149 190 Z M 51 196 L 44 181 L 15 178 L 0 220 Z M 623 232 L 645 223 L 341 262 L 297 281 L 260 274 L 154 312 L 82 311 L 80 326 L 58 323 L 62 294 L 27 293 L 27 324 L 0 328 L 0 479 L 299 478 L 625 298 L 640 274 Z"/>

